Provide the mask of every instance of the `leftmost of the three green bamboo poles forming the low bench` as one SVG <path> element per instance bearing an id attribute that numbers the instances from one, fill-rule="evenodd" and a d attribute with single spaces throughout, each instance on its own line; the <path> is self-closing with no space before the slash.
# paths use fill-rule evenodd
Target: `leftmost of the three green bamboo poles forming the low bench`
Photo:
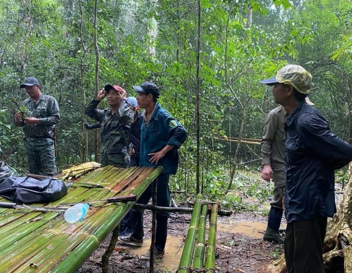
<path id="1" fill-rule="evenodd" d="M 186 240 L 185 240 L 185 244 L 183 247 L 178 268 L 190 267 L 192 265 L 193 251 L 194 251 L 195 243 L 197 239 L 200 209 L 202 205 L 201 201 L 199 201 L 201 200 L 201 198 L 202 198 L 202 195 L 199 193 L 196 197 L 196 202 L 193 206 L 191 223 L 188 228 L 188 232 L 187 232 L 187 236 L 186 236 Z M 178 270 L 177 273 L 187 273 L 187 271 L 184 269 L 181 269 L 181 270 Z"/>

